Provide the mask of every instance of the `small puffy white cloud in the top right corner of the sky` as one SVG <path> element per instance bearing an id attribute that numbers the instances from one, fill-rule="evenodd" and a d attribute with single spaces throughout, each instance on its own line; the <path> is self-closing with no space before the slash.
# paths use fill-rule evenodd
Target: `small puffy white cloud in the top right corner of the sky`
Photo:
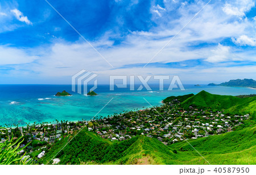
<path id="1" fill-rule="evenodd" d="M 226 3 L 222 10 L 228 15 L 234 16 L 245 16 L 245 12 L 250 11 L 252 7 L 255 6 L 253 0 L 237 0 L 232 4 Z"/>

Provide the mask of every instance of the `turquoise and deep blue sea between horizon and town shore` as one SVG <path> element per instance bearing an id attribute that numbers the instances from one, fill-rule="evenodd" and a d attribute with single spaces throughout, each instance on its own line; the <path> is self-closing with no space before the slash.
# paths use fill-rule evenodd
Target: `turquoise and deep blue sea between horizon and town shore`
<path id="1" fill-rule="evenodd" d="M 162 99 L 171 95 L 199 93 L 201 90 L 212 94 L 241 95 L 256 94 L 256 89 L 247 87 L 224 86 L 194 86 L 184 85 L 185 91 L 174 89 L 163 91 L 158 85 L 150 85 L 150 91 L 130 91 L 129 89 L 109 90 L 108 85 L 98 85 L 94 91 L 97 96 L 84 96 L 71 91 L 71 85 L 0 85 L 0 126 L 4 124 L 55 123 L 57 120 L 89 120 L 98 113 L 113 98 L 113 100 L 98 113 L 98 116 L 108 116 L 122 113 L 126 110 L 150 107 L 144 98 L 153 106 L 161 105 Z M 136 86 L 135 86 L 136 88 Z M 70 97 L 55 97 L 58 91 L 66 90 Z"/>

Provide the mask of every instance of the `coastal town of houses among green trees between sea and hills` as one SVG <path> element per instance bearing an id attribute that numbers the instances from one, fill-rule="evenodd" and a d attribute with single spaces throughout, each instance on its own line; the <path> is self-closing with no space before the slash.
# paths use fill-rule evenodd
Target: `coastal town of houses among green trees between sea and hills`
<path id="1" fill-rule="evenodd" d="M 53 144 L 67 136 L 73 136 L 80 130 L 94 132 L 109 141 L 122 141 L 138 135 L 158 139 L 165 145 L 170 145 L 187 139 L 197 139 L 209 135 L 231 132 L 242 126 L 250 115 L 225 115 L 224 111 L 200 110 L 189 106 L 187 110 L 180 107 L 177 100 L 138 111 L 127 111 L 109 118 L 98 117 L 90 121 L 68 122 L 65 120 L 55 123 L 41 123 L 26 127 L 13 127 L 1 130 L 1 143 L 17 140 L 23 136 L 23 148 L 20 156 L 26 153 L 29 159 L 38 161 Z M 28 145 L 27 145 L 28 144 Z M 53 164 L 59 163 L 53 160 Z"/>

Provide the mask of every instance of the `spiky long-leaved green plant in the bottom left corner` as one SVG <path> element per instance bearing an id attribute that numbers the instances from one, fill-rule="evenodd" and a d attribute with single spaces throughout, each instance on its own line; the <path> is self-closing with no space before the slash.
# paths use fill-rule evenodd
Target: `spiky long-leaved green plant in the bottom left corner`
<path id="1" fill-rule="evenodd" d="M 0 130 L 7 130 L 6 128 L 0 127 Z M 23 142 L 23 137 L 16 139 L 13 142 L 13 136 L 11 137 L 10 141 L 6 140 L 4 143 L 0 143 L 0 165 L 30 165 L 32 164 L 32 160 L 28 160 L 29 157 L 24 157 L 26 152 L 23 156 L 20 156 L 19 153 L 22 149 L 26 148 L 27 144 L 23 148 L 19 148 L 20 144 Z M 14 145 L 16 147 L 14 148 Z"/>

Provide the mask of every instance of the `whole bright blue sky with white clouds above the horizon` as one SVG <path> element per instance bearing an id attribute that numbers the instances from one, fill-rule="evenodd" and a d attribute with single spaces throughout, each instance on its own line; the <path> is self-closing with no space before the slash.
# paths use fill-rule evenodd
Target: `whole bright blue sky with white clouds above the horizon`
<path id="1" fill-rule="evenodd" d="M 253 0 L 215 0 L 203 10 L 208 1 L 48 2 L 113 68 L 46 1 L 0 1 L 0 84 L 70 84 L 81 69 L 102 83 L 112 74 L 256 80 Z"/>

